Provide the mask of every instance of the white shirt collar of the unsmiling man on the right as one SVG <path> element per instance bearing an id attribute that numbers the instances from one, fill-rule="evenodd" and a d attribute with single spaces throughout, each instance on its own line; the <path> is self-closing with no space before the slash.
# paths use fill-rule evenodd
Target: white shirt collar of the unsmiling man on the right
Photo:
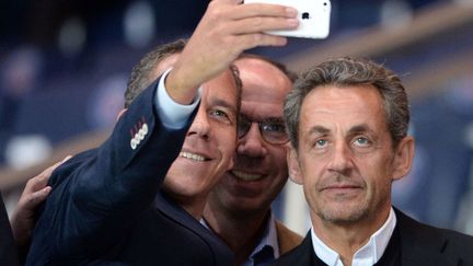
<path id="1" fill-rule="evenodd" d="M 378 229 L 371 236 L 366 245 L 359 248 L 353 258 L 351 265 L 373 265 L 376 264 L 384 253 L 391 235 L 396 224 L 396 217 L 393 208 L 391 207 L 390 215 L 384 224 Z M 338 253 L 325 245 L 321 239 L 319 239 L 313 230 L 311 229 L 312 245 L 314 252 L 320 259 L 330 266 L 342 266 L 343 263 L 339 259 Z"/>

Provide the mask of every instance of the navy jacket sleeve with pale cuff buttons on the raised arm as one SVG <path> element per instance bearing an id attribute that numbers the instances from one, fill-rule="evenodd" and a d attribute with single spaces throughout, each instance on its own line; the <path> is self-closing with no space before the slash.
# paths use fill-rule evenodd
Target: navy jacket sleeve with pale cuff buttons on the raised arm
<path id="1" fill-rule="evenodd" d="M 154 89 L 134 101 L 100 148 L 54 172 L 30 263 L 106 253 L 152 203 L 196 112 L 184 128 L 166 129 L 154 113 Z"/>

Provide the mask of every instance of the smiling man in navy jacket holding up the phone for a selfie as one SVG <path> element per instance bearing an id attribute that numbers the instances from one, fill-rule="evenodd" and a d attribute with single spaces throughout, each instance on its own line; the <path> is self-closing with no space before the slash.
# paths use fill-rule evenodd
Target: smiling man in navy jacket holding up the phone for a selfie
<path id="1" fill-rule="evenodd" d="M 293 28 L 298 21 L 288 18 L 296 14 L 281 5 L 211 1 L 159 85 L 132 102 L 100 149 L 51 176 L 56 186 L 26 265 L 231 265 L 228 248 L 198 223 L 208 192 L 232 165 L 239 79 L 229 66 L 244 49 L 284 45 L 261 32 Z M 245 26 L 254 21 L 259 25 Z M 188 111 L 169 112 L 177 116 L 169 119 L 171 129 L 157 116 L 169 109 L 153 101 L 163 97 Z"/>

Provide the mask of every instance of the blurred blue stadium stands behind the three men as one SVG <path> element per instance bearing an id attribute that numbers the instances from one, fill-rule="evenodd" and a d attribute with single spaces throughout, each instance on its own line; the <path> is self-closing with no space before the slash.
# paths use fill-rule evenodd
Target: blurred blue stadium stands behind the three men
<path id="1" fill-rule="evenodd" d="M 153 46 L 188 37 L 207 4 L 0 1 L 0 189 L 9 210 L 27 178 L 103 141 L 132 66 Z M 394 185 L 394 205 L 473 234 L 473 0 L 332 0 L 331 27 L 327 39 L 252 51 L 295 71 L 350 55 L 400 73 L 417 150 L 414 170 Z M 295 186 L 274 208 L 305 233 Z"/>

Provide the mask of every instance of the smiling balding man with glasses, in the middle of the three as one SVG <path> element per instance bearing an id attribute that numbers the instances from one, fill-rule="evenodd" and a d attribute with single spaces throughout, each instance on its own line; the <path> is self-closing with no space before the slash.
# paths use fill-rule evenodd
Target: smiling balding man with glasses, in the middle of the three
<path id="1" fill-rule="evenodd" d="M 234 252 L 235 265 L 264 265 L 301 242 L 270 210 L 288 178 L 282 102 L 296 76 L 254 55 L 234 65 L 243 83 L 234 165 L 210 193 L 204 222 Z"/>

